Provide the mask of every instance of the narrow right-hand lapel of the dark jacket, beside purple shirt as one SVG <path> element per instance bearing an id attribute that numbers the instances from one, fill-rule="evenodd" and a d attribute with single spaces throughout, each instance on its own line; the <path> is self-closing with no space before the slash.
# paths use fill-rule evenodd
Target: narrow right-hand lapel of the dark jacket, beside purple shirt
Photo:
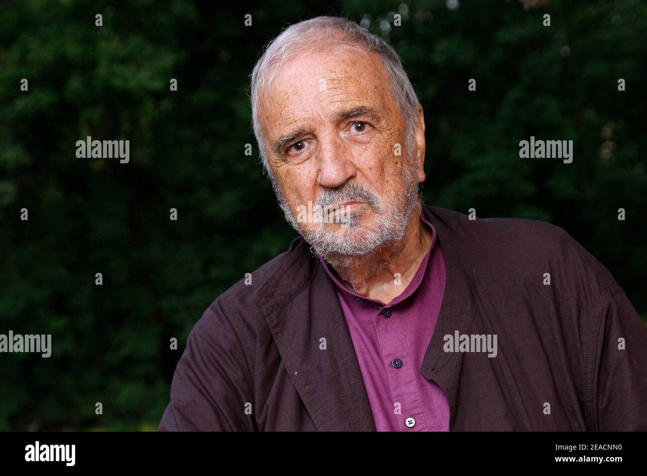
<path id="1" fill-rule="evenodd" d="M 443 247 L 446 265 L 446 281 L 443 304 L 438 316 L 432 341 L 422 360 L 421 374 L 435 381 L 448 400 L 450 407 L 450 430 L 456 417 L 456 403 L 459 390 L 459 376 L 463 366 L 462 352 L 444 352 L 443 337 L 446 334 L 467 334 L 476 312 L 476 299 L 472 286 L 472 269 L 462 260 L 455 246 L 457 236 L 439 214 L 443 209 L 423 205 L 424 212 L 436 229 L 438 240 Z M 463 250 L 465 255 L 466 250 Z"/>

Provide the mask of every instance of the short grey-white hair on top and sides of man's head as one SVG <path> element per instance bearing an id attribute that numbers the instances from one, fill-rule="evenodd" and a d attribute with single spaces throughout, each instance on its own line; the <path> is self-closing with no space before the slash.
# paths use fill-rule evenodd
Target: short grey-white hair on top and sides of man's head
<path id="1" fill-rule="evenodd" d="M 292 54 L 312 52 L 323 47 L 377 52 L 391 78 L 395 103 L 399 106 L 406 119 L 408 137 L 413 133 L 413 126 L 417 122 L 420 102 L 415 95 L 413 85 L 411 85 L 406 71 L 404 71 L 404 67 L 402 67 L 400 56 L 389 43 L 375 36 L 366 28 L 360 27 L 357 23 L 345 18 L 319 16 L 295 23 L 270 41 L 265 47 L 263 56 L 254 66 L 254 71 L 250 74 L 252 78 L 251 100 L 254 135 L 258 142 L 263 168 L 272 183 L 275 193 L 278 192 L 278 188 L 267 161 L 263 131 L 261 131 L 258 120 L 259 96 L 270 87 L 272 80 L 291 58 Z"/>

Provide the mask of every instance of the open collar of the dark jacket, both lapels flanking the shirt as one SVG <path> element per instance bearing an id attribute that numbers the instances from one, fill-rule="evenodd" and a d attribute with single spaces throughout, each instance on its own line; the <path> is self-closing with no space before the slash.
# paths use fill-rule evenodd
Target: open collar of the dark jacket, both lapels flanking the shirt
<path id="1" fill-rule="evenodd" d="M 454 423 L 463 354 L 443 352 L 443 335 L 465 333 L 474 318 L 472 271 L 459 260 L 449 210 L 422 205 L 437 231 L 446 285 L 421 374 L 436 381 Z M 256 294 L 283 365 L 319 431 L 375 431 L 373 413 L 334 284 L 301 236 Z"/>

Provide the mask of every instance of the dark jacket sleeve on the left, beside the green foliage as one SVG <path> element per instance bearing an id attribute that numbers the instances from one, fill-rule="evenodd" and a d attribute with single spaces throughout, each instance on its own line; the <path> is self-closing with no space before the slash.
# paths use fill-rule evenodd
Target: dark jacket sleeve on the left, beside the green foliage
<path id="1" fill-rule="evenodd" d="M 245 348 L 218 300 L 186 341 L 158 431 L 254 431 Z"/>

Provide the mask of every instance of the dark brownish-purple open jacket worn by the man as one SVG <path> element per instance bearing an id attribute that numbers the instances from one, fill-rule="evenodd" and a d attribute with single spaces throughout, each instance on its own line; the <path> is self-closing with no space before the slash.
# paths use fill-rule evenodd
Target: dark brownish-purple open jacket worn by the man
<path id="1" fill-rule="evenodd" d="M 647 429 L 647 330 L 602 264 L 549 223 L 424 211 L 447 280 L 420 372 L 446 394 L 451 431 Z M 456 330 L 496 334 L 498 355 L 444 352 Z M 375 431 L 334 285 L 303 238 L 204 312 L 159 429 Z"/>

